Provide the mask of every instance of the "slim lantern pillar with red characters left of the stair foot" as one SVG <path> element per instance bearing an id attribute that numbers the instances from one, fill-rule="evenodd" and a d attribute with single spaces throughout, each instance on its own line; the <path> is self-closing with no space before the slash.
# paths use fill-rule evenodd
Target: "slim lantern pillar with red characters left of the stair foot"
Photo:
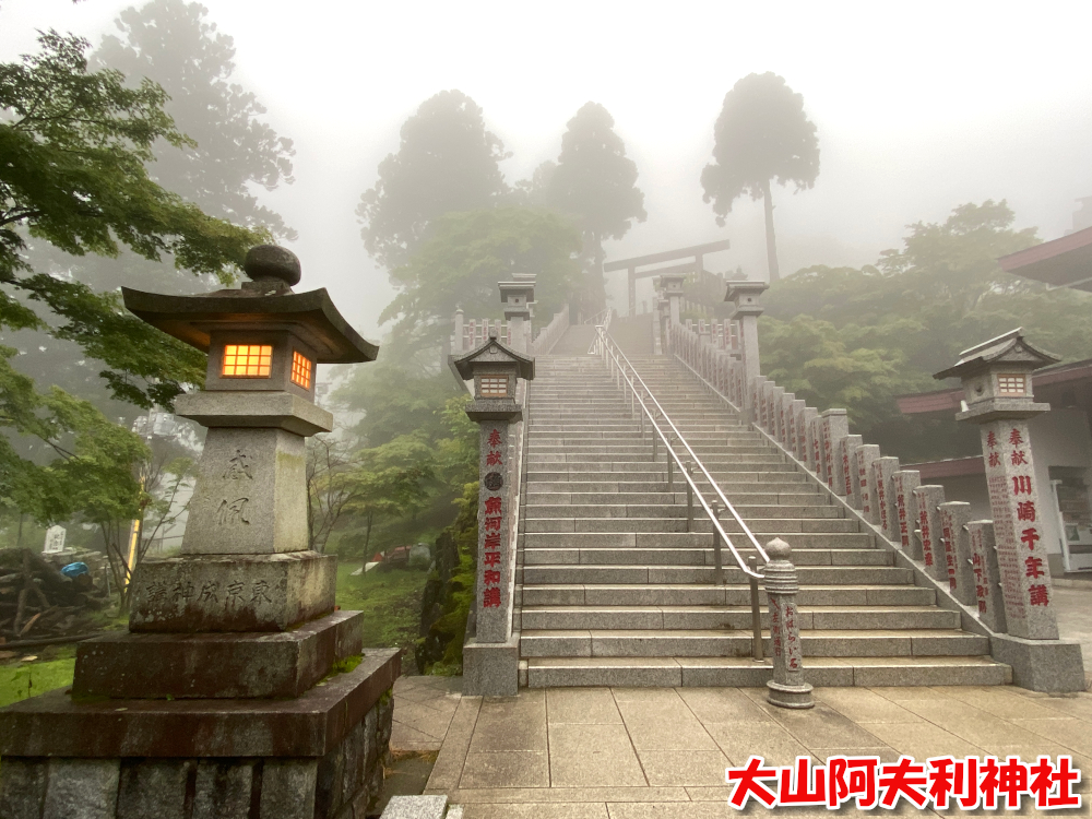
<path id="1" fill-rule="evenodd" d="M 463 380 L 473 380 L 466 415 L 480 428 L 478 462 L 478 559 L 474 637 L 463 648 L 463 692 L 514 696 L 519 689 L 519 645 L 512 638 L 515 591 L 515 532 L 519 507 L 519 452 L 512 425 L 523 418 L 517 401 L 519 379 L 535 377 L 534 358 L 489 339 L 452 361 Z"/>

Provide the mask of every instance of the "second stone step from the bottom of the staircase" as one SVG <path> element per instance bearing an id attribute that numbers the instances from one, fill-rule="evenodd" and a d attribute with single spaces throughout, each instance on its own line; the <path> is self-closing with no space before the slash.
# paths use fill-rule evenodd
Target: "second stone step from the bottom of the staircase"
<path id="1" fill-rule="evenodd" d="M 763 633 L 763 650 L 771 651 Z M 815 657 L 975 656 L 989 653 L 989 638 L 956 629 L 810 629 L 800 632 L 805 664 Z M 523 657 L 745 657 L 749 629 L 524 629 Z"/>

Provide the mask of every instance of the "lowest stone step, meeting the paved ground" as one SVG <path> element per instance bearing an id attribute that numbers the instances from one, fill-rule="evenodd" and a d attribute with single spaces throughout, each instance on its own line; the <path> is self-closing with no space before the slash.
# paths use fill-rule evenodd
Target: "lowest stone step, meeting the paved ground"
<path id="1" fill-rule="evenodd" d="M 989 657 L 808 657 L 814 686 L 1001 686 L 1012 669 Z M 750 657 L 532 657 L 531 688 L 613 686 L 639 688 L 762 687 L 769 663 Z"/>

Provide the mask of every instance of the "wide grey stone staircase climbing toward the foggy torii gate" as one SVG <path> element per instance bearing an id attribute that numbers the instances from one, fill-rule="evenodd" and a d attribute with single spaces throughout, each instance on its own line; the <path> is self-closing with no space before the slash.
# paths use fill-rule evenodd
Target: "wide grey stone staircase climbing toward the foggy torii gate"
<path id="1" fill-rule="evenodd" d="M 934 590 L 915 586 L 871 533 L 680 365 L 630 360 L 759 542 L 793 546 L 809 681 L 1009 681 L 987 638 L 961 631 Z M 686 531 L 686 485 L 676 474 L 668 486 L 666 454 L 652 460 L 651 437 L 642 442 L 602 359 L 538 358 L 526 464 L 520 651 L 529 686 L 764 684 L 769 665 L 750 656 L 746 575 L 724 549 L 725 584 L 713 583 L 712 523 L 698 508 Z M 724 525 L 737 547 L 747 543 L 738 524 Z"/>

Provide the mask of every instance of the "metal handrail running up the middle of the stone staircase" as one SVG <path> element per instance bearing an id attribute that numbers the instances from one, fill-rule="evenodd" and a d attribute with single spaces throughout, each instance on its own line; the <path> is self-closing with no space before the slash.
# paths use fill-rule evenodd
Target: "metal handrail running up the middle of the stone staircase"
<path id="1" fill-rule="evenodd" d="M 649 385 L 644 383 L 644 379 L 641 378 L 637 369 L 626 357 L 626 354 L 618 348 L 614 339 L 607 333 L 606 328 L 598 325 L 596 330 L 596 343 L 595 353 L 602 355 L 604 360 L 607 363 L 607 367 L 610 376 L 615 379 L 615 383 L 619 387 L 628 388 L 630 397 L 630 413 L 636 415 L 641 424 L 641 440 L 644 440 L 644 427 L 645 418 L 649 420 L 649 425 L 652 427 L 652 458 L 653 460 L 658 460 L 658 444 L 662 441 L 664 450 L 667 456 L 667 484 L 668 487 L 674 486 L 674 471 L 675 467 L 678 468 L 679 473 L 686 479 L 687 484 L 687 532 L 690 532 L 693 527 L 693 500 L 697 498 L 701 508 L 704 510 L 705 514 L 709 515 L 710 522 L 713 524 L 713 560 L 714 560 L 714 579 L 717 584 L 724 582 L 724 566 L 721 554 L 721 545 L 728 547 L 732 553 L 732 557 L 736 562 L 736 566 L 747 575 L 750 583 L 751 592 L 751 628 L 752 634 L 752 651 L 756 660 L 762 658 L 762 629 L 761 629 L 761 614 L 759 610 L 758 602 L 758 581 L 763 580 L 763 575 L 758 571 L 758 560 L 756 557 L 751 557 L 749 560 L 745 560 L 743 555 L 736 548 L 735 544 L 732 543 L 732 538 L 728 533 L 725 532 L 724 526 L 721 525 L 721 512 L 727 511 L 735 519 L 736 523 L 743 529 L 744 534 L 750 541 L 751 546 L 762 557 L 763 563 L 770 562 L 769 555 L 765 554 L 765 549 L 762 548 L 755 534 L 750 531 L 750 527 L 744 522 L 739 513 L 736 512 L 735 507 L 728 501 L 721 491 L 721 487 L 716 484 L 716 480 L 710 474 L 709 470 L 698 458 L 697 453 L 687 443 L 686 438 L 679 431 L 678 427 L 667 415 L 663 406 L 656 400 L 656 396 L 652 394 Z M 653 412 L 655 411 L 655 412 Z M 670 440 L 664 434 L 664 430 L 660 428 L 657 418 L 662 418 L 672 430 L 672 437 L 677 439 L 678 442 L 686 449 L 689 459 L 687 463 L 684 464 L 682 460 L 679 458 L 678 453 L 675 452 Z M 720 503 L 723 503 L 723 510 L 719 506 L 717 500 L 714 499 L 712 502 L 705 499 L 704 492 L 698 486 L 697 482 L 693 479 L 693 467 L 697 466 L 709 485 L 715 490 Z"/>

